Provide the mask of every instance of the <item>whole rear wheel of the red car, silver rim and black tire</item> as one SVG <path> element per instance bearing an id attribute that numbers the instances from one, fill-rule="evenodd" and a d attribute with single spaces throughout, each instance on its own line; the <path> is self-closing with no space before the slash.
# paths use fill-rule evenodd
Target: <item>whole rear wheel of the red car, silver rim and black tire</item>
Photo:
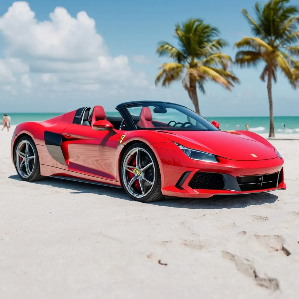
<path id="1" fill-rule="evenodd" d="M 14 164 L 19 177 L 23 181 L 39 181 L 39 157 L 36 146 L 29 136 L 24 136 L 17 141 L 14 150 Z"/>

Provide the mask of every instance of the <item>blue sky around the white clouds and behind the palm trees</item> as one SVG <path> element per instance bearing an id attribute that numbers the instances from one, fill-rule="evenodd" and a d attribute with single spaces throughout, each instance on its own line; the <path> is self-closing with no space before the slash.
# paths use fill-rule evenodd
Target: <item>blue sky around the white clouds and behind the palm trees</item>
<path id="1" fill-rule="evenodd" d="M 7 12 L 12 3 L 12 1 L 7 0 L 0 1 L 0 16 Z M 15 74 L 14 85 L 12 86 L 16 87 L 7 87 L 5 91 L 1 92 L 0 111 L 22 112 L 25 109 L 25 112 L 60 112 L 84 106 L 85 103 L 90 106 L 101 104 L 106 110 L 112 111 L 120 102 L 138 99 L 167 100 L 192 108 L 187 92 L 180 82 L 174 83 L 169 89 L 152 88 L 158 66 L 167 61 L 165 58 L 158 58 L 155 54 L 157 43 L 161 40 L 175 42 L 173 39 L 175 23 L 181 23 L 190 17 L 202 18 L 205 22 L 219 28 L 221 37 L 230 44 L 224 52 L 234 58 L 234 42 L 241 39 L 242 36 L 250 35 L 248 24 L 241 14 L 241 9 L 246 8 L 249 13 L 252 13 L 255 1 L 29 0 L 28 3 L 38 21 L 50 20 L 49 14 L 58 6 L 64 7 L 74 18 L 76 18 L 78 12 L 85 11 L 89 18 L 94 19 L 97 33 L 103 37 L 104 43 L 108 47 L 108 54 L 105 55 L 110 57 L 126 56 L 130 68 L 128 77 L 132 75 L 132 78 L 135 76 L 136 79 L 140 78 L 142 74 L 151 88 L 145 85 L 145 87 L 138 86 L 138 83 L 135 85 L 127 83 L 117 92 L 118 86 L 116 85 L 118 83 L 116 85 L 112 84 L 113 75 L 111 75 L 112 79 L 109 83 L 103 83 L 104 87 L 111 86 L 109 90 L 103 88 L 92 91 L 89 88 L 88 91 L 83 92 L 82 90 L 76 91 L 73 88 L 65 90 L 58 87 L 55 87 L 56 89 L 42 88 L 34 82 L 39 82 L 43 70 L 34 70 L 33 54 L 30 52 L 32 54 L 30 60 L 29 58 L 26 60 L 28 55 L 19 56 L 29 63 L 28 74 L 22 75 L 20 72 Z M 295 4 L 294 1 L 293 4 Z M 0 58 L 4 59 L 7 56 L 7 49 L 9 45 L 11 46 L 10 42 L 7 36 L 1 35 L 0 28 Z M 16 39 L 13 42 L 16 42 Z M 135 62 L 133 57 L 136 55 L 143 55 L 148 64 Z M 39 60 L 36 60 L 35 65 L 38 65 L 37 68 L 39 68 Z M 206 94 L 199 93 L 202 115 L 268 115 L 269 105 L 266 83 L 261 82 L 259 78 L 261 70 L 262 66 L 250 70 L 240 70 L 234 67 L 234 73 L 239 77 L 241 84 L 237 85 L 231 92 L 217 86 L 215 83 L 208 83 L 206 85 Z M 49 70 L 45 70 L 45 72 L 47 74 L 51 73 Z M 23 76 L 25 77 L 23 78 Z M 84 77 L 84 74 L 82 76 Z M 26 78 L 29 78 L 30 84 L 26 85 Z M 77 80 L 77 77 L 74 79 L 64 76 L 63 79 L 60 77 L 59 80 L 61 84 L 63 82 L 67 82 L 63 84 L 70 84 L 71 80 Z M 101 80 L 99 79 L 99 82 L 102 82 Z M 27 89 L 21 89 L 17 86 L 20 81 L 24 83 L 24 86 L 27 86 Z M 74 84 L 77 84 L 78 81 L 74 82 L 76 82 Z M 25 108 L 19 105 L 21 100 L 26 103 Z M 273 100 L 275 115 L 299 115 L 298 90 L 294 91 L 282 74 L 279 74 L 278 83 L 273 86 Z"/>

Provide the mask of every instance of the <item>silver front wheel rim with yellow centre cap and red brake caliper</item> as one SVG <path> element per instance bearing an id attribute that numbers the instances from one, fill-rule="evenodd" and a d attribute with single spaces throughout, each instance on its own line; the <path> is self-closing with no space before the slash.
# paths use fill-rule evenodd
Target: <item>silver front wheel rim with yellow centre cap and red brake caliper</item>
<path id="1" fill-rule="evenodd" d="M 132 196 L 147 196 L 155 182 L 155 167 L 150 154 L 140 147 L 129 151 L 123 160 L 122 175 L 124 187 Z"/>

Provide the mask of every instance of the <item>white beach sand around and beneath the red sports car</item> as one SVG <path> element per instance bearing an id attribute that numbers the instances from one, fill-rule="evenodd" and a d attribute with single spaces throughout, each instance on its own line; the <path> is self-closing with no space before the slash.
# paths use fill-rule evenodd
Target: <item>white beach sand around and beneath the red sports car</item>
<path id="1" fill-rule="evenodd" d="M 0 132 L 1 299 L 299 298 L 299 141 L 271 141 L 285 191 L 143 204 L 21 181 L 11 134 Z"/>

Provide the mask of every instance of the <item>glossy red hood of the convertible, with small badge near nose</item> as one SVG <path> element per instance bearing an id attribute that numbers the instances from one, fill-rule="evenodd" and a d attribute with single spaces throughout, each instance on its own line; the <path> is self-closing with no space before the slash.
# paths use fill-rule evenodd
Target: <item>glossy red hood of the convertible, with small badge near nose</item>
<path id="1" fill-rule="evenodd" d="M 265 139 L 262 138 L 259 142 L 236 131 L 160 132 L 185 147 L 205 151 L 230 160 L 256 161 L 277 157 L 274 147 Z"/>

